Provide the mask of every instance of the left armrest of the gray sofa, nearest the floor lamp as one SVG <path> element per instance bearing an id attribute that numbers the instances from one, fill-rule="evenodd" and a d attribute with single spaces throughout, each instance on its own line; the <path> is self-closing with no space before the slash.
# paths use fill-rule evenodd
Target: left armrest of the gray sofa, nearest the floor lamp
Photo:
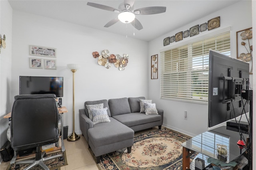
<path id="1" fill-rule="evenodd" d="M 84 135 L 85 140 L 88 142 L 87 130 L 93 128 L 92 121 L 86 116 L 85 109 L 79 109 L 79 123 L 82 134 Z"/>

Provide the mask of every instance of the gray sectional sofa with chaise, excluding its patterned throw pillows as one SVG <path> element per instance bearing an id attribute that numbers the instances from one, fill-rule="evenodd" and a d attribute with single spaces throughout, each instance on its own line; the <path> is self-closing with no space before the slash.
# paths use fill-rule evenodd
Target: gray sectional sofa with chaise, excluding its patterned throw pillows
<path id="1" fill-rule="evenodd" d="M 140 113 L 140 99 L 145 97 L 124 97 L 99 101 L 86 101 L 85 109 L 79 109 L 80 129 L 88 146 L 96 156 L 96 163 L 100 162 L 100 156 L 119 149 L 127 148 L 131 152 L 134 132 L 163 124 L 162 109 L 157 109 L 157 115 Z M 89 118 L 88 105 L 103 103 L 110 122 L 94 124 Z M 90 110 L 90 109 L 89 109 Z"/>

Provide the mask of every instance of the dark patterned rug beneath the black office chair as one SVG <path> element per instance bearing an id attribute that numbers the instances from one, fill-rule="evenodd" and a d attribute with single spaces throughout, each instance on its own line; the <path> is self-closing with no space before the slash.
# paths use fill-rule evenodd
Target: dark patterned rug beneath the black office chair
<path id="1" fill-rule="evenodd" d="M 64 159 L 60 157 L 60 158 L 55 158 L 55 159 L 51 159 L 48 161 L 44 161 L 44 164 L 46 164 L 46 166 L 48 166 L 48 168 L 50 170 L 60 170 L 61 166 L 66 166 L 68 164 L 67 157 L 66 157 L 66 151 L 50 153 L 50 154 L 47 154 L 46 157 L 53 156 L 56 154 L 62 154 Z M 15 170 L 15 166 L 16 166 L 15 163 L 11 164 L 8 166 L 7 170 Z M 28 166 L 29 166 L 29 164 L 20 164 L 20 167 L 17 170 L 24 170 Z M 40 166 L 34 166 L 31 170 L 42 170 L 42 168 Z"/>

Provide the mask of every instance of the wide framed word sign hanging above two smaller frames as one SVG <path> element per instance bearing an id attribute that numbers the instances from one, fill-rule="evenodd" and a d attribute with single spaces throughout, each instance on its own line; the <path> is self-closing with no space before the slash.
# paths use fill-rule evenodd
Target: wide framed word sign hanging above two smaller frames
<path id="1" fill-rule="evenodd" d="M 56 48 L 30 45 L 30 55 L 56 58 Z"/>

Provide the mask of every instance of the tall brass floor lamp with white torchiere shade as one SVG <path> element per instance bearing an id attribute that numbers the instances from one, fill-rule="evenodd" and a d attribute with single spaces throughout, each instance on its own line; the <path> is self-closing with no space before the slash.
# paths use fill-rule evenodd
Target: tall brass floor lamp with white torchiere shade
<path id="1" fill-rule="evenodd" d="M 76 141 L 80 138 L 80 136 L 78 136 L 75 133 L 75 87 L 74 87 L 74 73 L 76 72 L 76 70 L 78 69 L 79 65 L 78 64 L 67 64 L 67 67 L 70 69 L 70 71 L 72 71 L 73 73 L 73 132 L 72 134 L 70 134 L 67 138 L 68 141 Z"/>

